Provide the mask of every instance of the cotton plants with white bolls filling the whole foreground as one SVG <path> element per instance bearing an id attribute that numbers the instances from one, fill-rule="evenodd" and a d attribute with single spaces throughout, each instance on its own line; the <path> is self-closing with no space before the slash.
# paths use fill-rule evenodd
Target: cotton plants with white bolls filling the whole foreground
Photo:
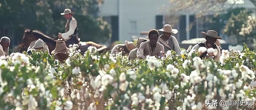
<path id="1" fill-rule="evenodd" d="M 256 52 L 246 44 L 242 52 L 222 52 L 220 62 L 189 50 L 134 61 L 73 50 L 64 64 L 48 53 L 13 53 L 0 59 L 0 108 L 190 110 L 206 109 L 211 98 L 255 99 Z"/>

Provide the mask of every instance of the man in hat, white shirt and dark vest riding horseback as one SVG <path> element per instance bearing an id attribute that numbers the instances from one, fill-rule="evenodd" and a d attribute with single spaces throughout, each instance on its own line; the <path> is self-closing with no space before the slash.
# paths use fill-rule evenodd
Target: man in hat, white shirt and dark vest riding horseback
<path id="1" fill-rule="evenodd" d="M 78 44 L 80 42 L 78 38 L 78 29 L 77 29 L 77 22 L 76 19 L 73 17 L 74 12 L 71 12 L 70 9 L 65 9 L 61 15 L 67 20 L 65 26 L 65 33 L 59 33 L 58 38 L 62 38 L 65 40 L 66 45 L 69 46 L 70 44 Z"/>

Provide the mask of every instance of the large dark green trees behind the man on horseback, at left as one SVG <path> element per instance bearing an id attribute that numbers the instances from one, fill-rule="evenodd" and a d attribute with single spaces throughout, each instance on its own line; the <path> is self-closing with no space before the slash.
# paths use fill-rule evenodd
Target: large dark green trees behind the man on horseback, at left
<path id="1" fill-rule="evenodd" d="M 110 39 L 109 25 L 98 18 L 98 6 L 102 0 L 1 0 L 0 1 L 0 36 L 8 36 L 12 45 L 21 41 L 24 28 L 40 30 L 48 36 L 64 32 L 66 20 L 60 13 L 65 8 L 75 12 L 78 21 L 79 36 L 82 41 Z M 89 25 L 90 24 L 90 25 Z M 88 29 L 90 26 L 90 31 Z M 100 28 L 100 29 L 99 29 Z M 83 31 L 80 31 L 80 30 Z M 87 32 L 84 34 L 84 32 Z M 104 34 L 99 34 L 104 33 Z M 87 39 L 87 38 L 94 39 Z"/>

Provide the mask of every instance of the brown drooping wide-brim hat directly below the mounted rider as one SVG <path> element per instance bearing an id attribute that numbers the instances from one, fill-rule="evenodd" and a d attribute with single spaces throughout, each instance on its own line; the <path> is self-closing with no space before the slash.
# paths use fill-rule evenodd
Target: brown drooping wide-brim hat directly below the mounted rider
<path id="1" fill-rule="evenodd" d="M 68 54 L 69 51 L 70 49 L 67 48 L 65 41 L 57 41 L 56 48 L 51 52 L 51 54 Z"/>

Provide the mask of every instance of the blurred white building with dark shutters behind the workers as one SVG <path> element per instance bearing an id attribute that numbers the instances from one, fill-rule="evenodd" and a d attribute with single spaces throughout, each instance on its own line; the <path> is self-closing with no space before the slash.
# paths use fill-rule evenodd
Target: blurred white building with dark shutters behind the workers
<path id="1" fill-rule="evenodd" d="M 249 0 L 241 0 L 235 7 L 255 9 Z M 112 41 L 132 40 L 132 36 L 140 36 L 140 32 L 160 29 L 164 24 L 172 24 L 178 29 L 176 38 L 179 42 L 201 36 L 208 30 L 204 20 L 195 18 L 195 12 L 176 12 L 179 16 L 170 15 L 168 0 L 104 0 L 100 6 L 100 16 L 112 26 Z M 191 22 L 194 24 L 190 27 Z M 189 28 L 186 31 L 186 28 Z M 220 30 L 217 30 L 220 31 Z"/>

